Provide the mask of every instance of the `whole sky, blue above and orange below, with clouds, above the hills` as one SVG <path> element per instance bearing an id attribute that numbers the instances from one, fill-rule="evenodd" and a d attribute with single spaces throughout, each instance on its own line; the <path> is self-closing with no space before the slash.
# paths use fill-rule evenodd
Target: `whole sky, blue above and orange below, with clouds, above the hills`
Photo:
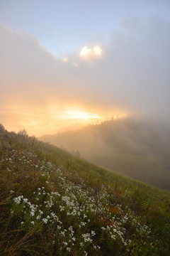
<path id="1" fill-rule="evenodd" d="M 169 119 L 170 1 L 0 0 L 0 123 L 55 134 Z"/>

